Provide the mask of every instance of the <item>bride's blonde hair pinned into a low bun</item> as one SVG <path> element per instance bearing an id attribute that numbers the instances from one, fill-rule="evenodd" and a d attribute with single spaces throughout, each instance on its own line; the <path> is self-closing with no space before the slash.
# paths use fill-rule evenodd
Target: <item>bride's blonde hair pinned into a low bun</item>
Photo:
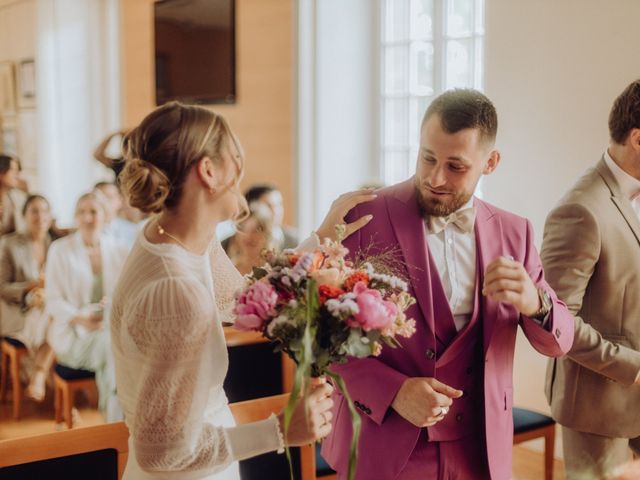
<path id="1" fill-rule="evenodd" d="M 151 112 L 124 136 L 125 166 L 118 181 L 130 205 L 145 213 L 175 207 L 187 174 L 198 161 L 220 161 L 222 149 L 233 144 L 240 152 L 238 174 L 227 189 L 239 205 L 237 218 L 248 207 L 238 185 L 244 173 L 244 155 L 227 121 L 203 107 L 169 102 Z"/>

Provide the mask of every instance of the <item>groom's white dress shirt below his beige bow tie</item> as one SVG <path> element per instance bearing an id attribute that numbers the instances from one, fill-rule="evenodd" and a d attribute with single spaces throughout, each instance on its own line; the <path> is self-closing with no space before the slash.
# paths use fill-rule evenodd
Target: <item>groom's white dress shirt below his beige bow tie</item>
<path id="1" fill-rule="evenodd" d="M 473 197 L 459 210 L 473 208 Z M 463 232 L 453 223 L 438 233 L 429 231 L 425 222 L 427 243 L 436 263 L 440 280 L 458 331 L 471 320 L 476 286 L 476 235 Z"/>

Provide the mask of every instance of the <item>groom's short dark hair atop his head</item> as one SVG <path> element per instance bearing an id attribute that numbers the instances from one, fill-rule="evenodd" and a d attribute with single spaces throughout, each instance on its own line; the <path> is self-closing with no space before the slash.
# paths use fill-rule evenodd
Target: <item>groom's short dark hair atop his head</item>
<path id="1" fill-rule="evenodd" d="M 442 129 L 447 133 L 477 128 L 485 142 L 494 142 L 498 133 L 498 114 L 493 103 L 483 93 L 470 88 L 448 90 L 436 97 L 424 114 L 422 126 L 433 115 L 440 117 Z"/>

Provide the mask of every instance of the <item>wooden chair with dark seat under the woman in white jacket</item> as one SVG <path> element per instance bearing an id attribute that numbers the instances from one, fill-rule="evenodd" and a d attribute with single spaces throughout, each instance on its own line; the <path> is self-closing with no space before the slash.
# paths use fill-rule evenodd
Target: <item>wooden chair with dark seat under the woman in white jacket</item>
<path id="1" fill-rule="evenodd" d="M 95 403 L 98 398 L 98 389 L 95 374 L 87 370 L 76 370 L 62 365 L 56 365 L 53 374 L 53 402 L 56 423 L 63 420 L 67 428 L 73 428 L 72 411 L 76 393 L 79 391 L 89 393 L 89 398 Z"/>

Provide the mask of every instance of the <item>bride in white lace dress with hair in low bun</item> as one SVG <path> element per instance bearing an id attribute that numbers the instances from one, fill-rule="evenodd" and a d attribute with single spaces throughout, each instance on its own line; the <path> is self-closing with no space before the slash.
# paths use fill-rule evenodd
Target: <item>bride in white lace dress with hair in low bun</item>
<path id="1" fill-rule="evenodd" d="M 233 294 L 243 281 L 215 229 L 246 205 L 238 190 L 242 155 L 225 120 L 166 104 L 126 136 L 124 150 L 125 195 L 158 213 L 138 236 L 113 301 L 117 388 L 130 432 L 124 478 L 237 480 L 238 460 L 326 436 L 326 384 L 299 402 L 286 439 L 281 414 L 235 426 L 227 405 L 222 323 L 233 321 Z M 371 198 L 341 197 L 318 235 Z"/>

